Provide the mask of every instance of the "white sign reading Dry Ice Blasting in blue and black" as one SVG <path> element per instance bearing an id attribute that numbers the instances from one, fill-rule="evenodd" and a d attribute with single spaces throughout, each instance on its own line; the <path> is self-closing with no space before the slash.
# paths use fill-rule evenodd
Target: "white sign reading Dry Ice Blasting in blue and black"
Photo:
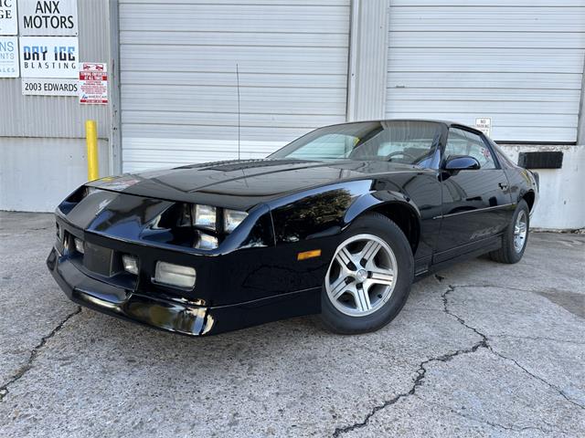
<path id="1" fill-rule="evenodd" d="M 77 36 L 20 36 L 23 78 L 77 78 Z"/>

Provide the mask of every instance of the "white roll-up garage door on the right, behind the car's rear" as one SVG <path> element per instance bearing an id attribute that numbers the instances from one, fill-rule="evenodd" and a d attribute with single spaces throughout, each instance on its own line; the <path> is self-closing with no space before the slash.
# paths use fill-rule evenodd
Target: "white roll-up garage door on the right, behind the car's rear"
<path id="1" fill-rule="evenodd" d="M 390 0 L 387 115 L 576 141 L 584 30 L 583 0 Z"/>

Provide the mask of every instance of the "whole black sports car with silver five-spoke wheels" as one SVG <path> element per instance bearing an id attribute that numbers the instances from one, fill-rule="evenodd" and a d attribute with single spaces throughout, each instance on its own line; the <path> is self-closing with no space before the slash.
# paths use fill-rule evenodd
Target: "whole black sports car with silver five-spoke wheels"
<path id="1" fill-rule="evenodd" d="M 361 333 L 445 264 L 520 260 L 537 193 L 537 175 L 473 128 L 346 123 L 265 160 L 87 183 L 58 205 L 47 264 L 73 301 L 156 328 L 208 335 L 321 314 Z"/>

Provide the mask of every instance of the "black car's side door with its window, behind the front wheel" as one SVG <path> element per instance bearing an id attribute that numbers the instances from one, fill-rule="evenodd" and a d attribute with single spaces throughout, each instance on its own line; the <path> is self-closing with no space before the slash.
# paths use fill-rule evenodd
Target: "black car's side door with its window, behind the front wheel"
<path id="1" fill-rule="evenodd" d="M 468 155 L 480 169 L 446 171 L 450 156 Z M 435 262 L 489 245 L 511 220 L 512 199 L 505 172 L 491 146 L 471 130 L 451 127 L 441 160 L 441 235 Z"/>

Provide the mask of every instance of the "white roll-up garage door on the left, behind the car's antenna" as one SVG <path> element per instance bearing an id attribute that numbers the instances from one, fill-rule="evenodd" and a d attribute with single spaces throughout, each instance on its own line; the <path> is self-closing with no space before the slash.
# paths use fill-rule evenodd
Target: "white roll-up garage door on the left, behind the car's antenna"
<path id="1" fill-rule="evenodd" d="M 123 171 L 263 157 L 346 119 L 349 0 L 121 0 Z"/>

